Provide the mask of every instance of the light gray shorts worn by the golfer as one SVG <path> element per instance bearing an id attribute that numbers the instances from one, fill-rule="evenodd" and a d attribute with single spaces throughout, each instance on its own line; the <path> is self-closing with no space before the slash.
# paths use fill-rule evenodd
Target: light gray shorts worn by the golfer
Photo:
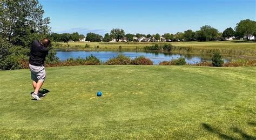
<path id="1" fill-rule="evenodd" d="M 29 64 L 29 69 L 31 71 L 31 79 L 35 82 L 38 80 L 44 81 L 45 80 L 45 69 L 44 66 L 35 66 Z"/>

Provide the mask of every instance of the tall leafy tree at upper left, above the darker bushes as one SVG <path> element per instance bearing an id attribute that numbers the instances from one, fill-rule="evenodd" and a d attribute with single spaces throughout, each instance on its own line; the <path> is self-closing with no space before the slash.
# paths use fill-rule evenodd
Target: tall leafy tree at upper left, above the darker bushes
<path id="1" fill-rule="evenodd" d="M 10 0 L 0 2 L 0 34 L 14 45 L 30 47 L 35 39 L 50 33 L 50 18 L 43 18 L 38 1 Z"/>

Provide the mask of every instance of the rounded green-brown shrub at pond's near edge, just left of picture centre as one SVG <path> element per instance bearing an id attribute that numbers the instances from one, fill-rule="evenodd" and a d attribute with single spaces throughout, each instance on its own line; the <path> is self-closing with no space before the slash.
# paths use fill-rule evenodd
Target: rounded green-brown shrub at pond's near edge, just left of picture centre
<path id="1" fill-rule="evenodd" d="M 107 65 L 128 65 L 131 62 L 131 58 L 130 57 L 126 57 L 123 54 L 122 55 L 118 55 L 117 57 L 114 58 L 110 58 L 106 64 Z"/>

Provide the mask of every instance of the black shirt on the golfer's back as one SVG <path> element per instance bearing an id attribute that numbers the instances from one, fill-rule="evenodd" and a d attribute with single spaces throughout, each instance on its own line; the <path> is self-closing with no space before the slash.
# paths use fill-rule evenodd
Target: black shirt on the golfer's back
<path id="1" fill-rule="evenodd" d="M 48 55 L 48 49 L 37 40 L 33 41 L 30 48 L 29 63 L 35 66 L 42 66 L 44 65 L 46 55 Z"/>

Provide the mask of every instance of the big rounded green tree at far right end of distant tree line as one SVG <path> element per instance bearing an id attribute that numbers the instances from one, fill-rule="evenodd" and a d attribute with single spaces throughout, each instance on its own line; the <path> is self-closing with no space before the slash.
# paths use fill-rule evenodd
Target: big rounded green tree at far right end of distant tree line
<path id="1" fill-rule="evenodd" d="M 241 20 L 235 27 L 235 31 L 240 38 L 244 38 L 245 36 L 249 40 L 250 36 L 256 32 L 256 21 L 250 19 Z"/>

